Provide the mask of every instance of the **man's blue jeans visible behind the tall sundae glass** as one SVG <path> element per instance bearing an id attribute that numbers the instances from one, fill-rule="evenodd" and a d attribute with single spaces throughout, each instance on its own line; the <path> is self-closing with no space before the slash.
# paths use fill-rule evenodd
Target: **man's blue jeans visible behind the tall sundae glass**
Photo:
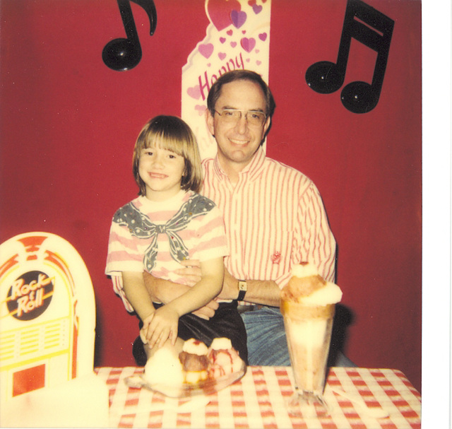
<path id="1" fill-rule="evenodd" d="M 290 366 L 284 319 L 278 307 L 262 307 L 242 313 L 246 328 L 249 365 Z M 355 367 L 338 351 L 333 366 Z"/>

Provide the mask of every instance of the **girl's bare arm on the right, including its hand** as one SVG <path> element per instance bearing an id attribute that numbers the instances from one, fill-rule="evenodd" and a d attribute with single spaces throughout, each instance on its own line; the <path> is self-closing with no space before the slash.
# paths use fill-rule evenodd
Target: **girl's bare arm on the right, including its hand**
<path id="1" fill-rule="evenodd" d="M 149 331 L 153 332 L 149 339 L 151 348 L 155 344 L 162 346 L 165 342 L 163 339 L 167 339 L 168 335 L 171 336 L 173 343 L 176 341 L 176 338 L 167 331 L 165 319 L 175 315 L 181 317 L 193 312 L 206 305 L 220 293 L 224 275 L 223 258 L 218 257 L 201 262 L 201 273 L 201 280 L 196 285 L 155 312 L 149 326 Z"/>

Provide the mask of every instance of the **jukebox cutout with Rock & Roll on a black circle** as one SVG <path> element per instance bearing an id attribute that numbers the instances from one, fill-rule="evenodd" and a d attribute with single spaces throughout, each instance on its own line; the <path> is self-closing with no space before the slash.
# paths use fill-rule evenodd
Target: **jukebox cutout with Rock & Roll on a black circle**
<path id="1" fill-rule="evenodd" d="M 28 413 L 34 425 L 102 425 L 85 413 L 105 418 L 108 391 L 93 372 L 95 297 L 76 249 L 49 233 L 2 243 L 0 302 L 1 425 L 27 425 Z"/>

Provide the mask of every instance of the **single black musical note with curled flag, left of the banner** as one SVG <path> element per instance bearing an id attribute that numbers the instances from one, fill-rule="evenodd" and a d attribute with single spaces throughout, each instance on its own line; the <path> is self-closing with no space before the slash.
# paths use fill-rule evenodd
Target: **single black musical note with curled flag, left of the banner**
<path id="1" fill-rule="evenodd" d="M 133 69 L 141 61 L 141 45 L 135 20 L 133 20 L 131 1 L 141 6 L 148 14 L 151 36 L 157 27 L 157 11 L 153 0 L 117 0 L 126 38 L 111 40 L 102 50 L 102 60 L 105 65 L 116 71 Z"/>

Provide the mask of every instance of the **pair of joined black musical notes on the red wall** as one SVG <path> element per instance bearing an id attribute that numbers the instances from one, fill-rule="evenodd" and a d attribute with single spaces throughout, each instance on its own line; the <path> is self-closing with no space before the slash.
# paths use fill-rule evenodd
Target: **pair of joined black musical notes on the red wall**
<path id="1" fill-rule="evenodd" d="M 348 83 L 340 99 L 350 112 L 370 112 L 379 102 L 393 28 L 394 21 L 375 8 L 361 0 L 348 0 L 338 59 L 336 63 L 319 61 L 312 64 L 305 76 L 309 88 L 317 93 L 330 94 L 343 85 L 350 43 L 354 38 L 376 51 L 374 76 L 370 84 L 362 81 Z"/>

